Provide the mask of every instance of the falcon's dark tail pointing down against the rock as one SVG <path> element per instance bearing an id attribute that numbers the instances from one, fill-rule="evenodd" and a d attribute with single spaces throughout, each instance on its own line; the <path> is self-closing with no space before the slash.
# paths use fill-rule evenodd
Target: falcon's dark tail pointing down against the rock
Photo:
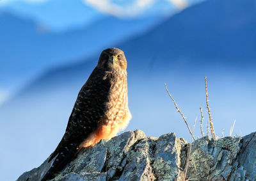
<path id="1" fill-rule="evenodd" d="M 44 177 L 41 181 L 46 181 L 54 178 L 54 175 L 61 171 L 64 166 L 71 161 L 72 157 L 76 155 L 77 145 L 74 143 L 70 143 L 70 145 L 65 146 L 65 148 L 61 149 L 61 152 L 58 153 L 56 159 L 52 163 L 51 168 L 45 173 Z"/>

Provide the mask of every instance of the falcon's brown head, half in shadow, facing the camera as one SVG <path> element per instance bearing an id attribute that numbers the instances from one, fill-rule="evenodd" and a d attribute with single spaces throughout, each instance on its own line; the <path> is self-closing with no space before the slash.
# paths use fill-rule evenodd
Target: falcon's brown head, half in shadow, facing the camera
<path id="1" fill-rule="evenodd" d="M 100 54 L 98 68 L 126 70 L 127 61 L 124 52 L 120 49 L 110 48 Z"/>

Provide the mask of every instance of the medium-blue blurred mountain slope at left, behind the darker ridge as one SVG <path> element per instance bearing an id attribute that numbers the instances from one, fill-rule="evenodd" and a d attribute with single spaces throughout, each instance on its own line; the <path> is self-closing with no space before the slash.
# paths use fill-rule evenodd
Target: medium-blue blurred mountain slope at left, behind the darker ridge
<path id="1" fill-rule="evenodd" d="M 17 89 L 45 68 L 86 57 L 106 45 L 131 38 L 158 20 L 104 17 L 84 28 L 52 33 L 31 20 L 1 13 L 1 86 Z"/>

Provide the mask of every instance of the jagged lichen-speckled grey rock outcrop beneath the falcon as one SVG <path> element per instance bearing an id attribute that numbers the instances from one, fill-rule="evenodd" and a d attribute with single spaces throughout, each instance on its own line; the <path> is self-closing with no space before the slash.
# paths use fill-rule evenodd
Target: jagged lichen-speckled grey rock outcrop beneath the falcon
<path id="1" fill-rule="evenodd" d="M 174 133 L 157 139 L 135 130 L 81 151 L 53 180 L 256 180 L 255 155 L 255 133 L 190 145 Z M 40 180 L 51 166 L 47 160 L 18 180 Z"/>

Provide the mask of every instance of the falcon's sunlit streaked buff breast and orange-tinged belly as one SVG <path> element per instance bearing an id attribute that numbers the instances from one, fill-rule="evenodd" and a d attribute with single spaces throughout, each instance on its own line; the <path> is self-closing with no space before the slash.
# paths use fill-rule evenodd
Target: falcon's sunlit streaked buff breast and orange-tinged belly
<path id="1" fill-rule="evenodd" d="M 111 139 L 124 130 L 131 120 L 128 107 L 127 79 L 121 76 L 113 79 L 109 90 L 106 112 L 100 119 L 97 129 L 86 138 L 80 147 L 93 146 L 100 139 Z"/>

